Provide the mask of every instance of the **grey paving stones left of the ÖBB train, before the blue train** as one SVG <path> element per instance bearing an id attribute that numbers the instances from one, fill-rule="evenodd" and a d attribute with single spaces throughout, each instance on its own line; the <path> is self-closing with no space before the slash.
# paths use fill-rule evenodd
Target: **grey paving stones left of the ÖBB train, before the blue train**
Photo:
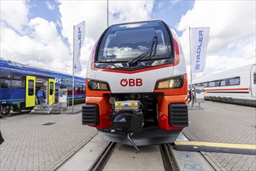
<path id="1" fill-rule="evenodd" d="M 81 108 L 82 105 L 75 105 Z M 42 125 L 55 123 L 51 125 Z M 0 119 L 5 141 L 0 170 L 46 170 L 81 145 L 96 129 L 77 114 L 22 114 Z"/>

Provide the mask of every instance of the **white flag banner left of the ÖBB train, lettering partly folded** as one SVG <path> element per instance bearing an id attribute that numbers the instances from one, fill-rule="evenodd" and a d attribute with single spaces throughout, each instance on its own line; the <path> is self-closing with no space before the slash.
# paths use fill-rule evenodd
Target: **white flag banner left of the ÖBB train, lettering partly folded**
<path id="1" fill-rule="evenodd" d="M 74 27 L 74 73 L 82 71 L 80 55 L 83 41 L 86 36 L 86 22 L 83 21 Z"/>

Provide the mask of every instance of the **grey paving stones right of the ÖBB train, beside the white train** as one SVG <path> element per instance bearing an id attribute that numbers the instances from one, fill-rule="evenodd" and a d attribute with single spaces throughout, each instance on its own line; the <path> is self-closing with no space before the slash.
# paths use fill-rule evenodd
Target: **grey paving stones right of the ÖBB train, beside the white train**
<path id="1" fill-rule="evenodd" d="M 253 107 L 205 101 L 204 110 L 189 110 L 191 124 L 184 134 L 191 141 L 256 144 L 256 110 Z M 256 170 L 255 155 L 202 152 L 216 170 Z"/>

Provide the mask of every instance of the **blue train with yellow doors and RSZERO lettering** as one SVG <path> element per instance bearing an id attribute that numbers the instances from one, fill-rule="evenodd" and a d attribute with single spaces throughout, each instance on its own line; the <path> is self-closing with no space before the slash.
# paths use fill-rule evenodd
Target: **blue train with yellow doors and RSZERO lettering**
<path id="1" fill-rule="evenodd" d="M 69 103 L 72 102 L 72 75 L 0 58 L 1 114 L 33 109 L 37 105 L 37 90 L 42 86 L 46 88 L 47 104 L 58 102 L 59 88 L 68 89 Z M 74 86 L 74 103 L 85 103 L 86 79 L 75 77 Z"/>

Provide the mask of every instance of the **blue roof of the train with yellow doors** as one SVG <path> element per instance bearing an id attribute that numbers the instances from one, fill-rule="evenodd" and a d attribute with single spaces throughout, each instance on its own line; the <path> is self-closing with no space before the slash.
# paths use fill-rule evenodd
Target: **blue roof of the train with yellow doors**
<path id="1" fill-rule="evenodd" d="M 70 78 L 72 75 L 64 74 L 61 72 L 54 72 L 49 69 L 44 69 L 44 68 L 37 68 L 34 66 L 30 65 L 24 65 L 19 62 L 15 61 L 10 61 L 10 60 L 5 60 L 3 58 L 0 58 L 0 68 L 2 70 L 4 69 L 12 69 L 13 72 L 18 73 L 23 73 L 23 74 L 32 74 L 32 75 L 39 75 L 39 76 L 51 76 L 51 77 L 63 77 L 63 78 Z M 85 78 L 82 77 L 77 77 L 75 76 L 74 79 L 76 80 L 85 80 Z"/>

